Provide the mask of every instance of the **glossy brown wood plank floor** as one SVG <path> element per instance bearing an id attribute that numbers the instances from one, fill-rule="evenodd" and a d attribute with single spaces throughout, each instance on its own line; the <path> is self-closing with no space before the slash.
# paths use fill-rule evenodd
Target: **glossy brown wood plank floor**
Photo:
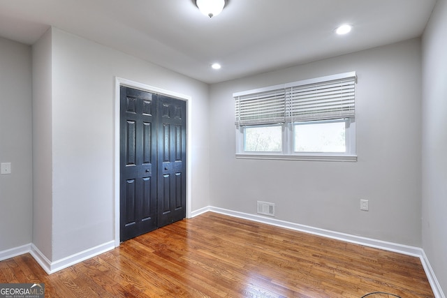
<path id="1" fill-rule="evenodd" d="M 212 212 L 50 276 L 29 254 L 3 260 L 0 283 L 45 283 L 45 297 L 434 297 L 418 258 Z"/>

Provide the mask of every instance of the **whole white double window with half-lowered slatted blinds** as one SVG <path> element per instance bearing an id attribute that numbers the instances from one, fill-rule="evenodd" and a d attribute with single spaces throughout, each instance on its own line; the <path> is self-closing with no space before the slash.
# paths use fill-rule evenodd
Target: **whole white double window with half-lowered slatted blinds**
<path id="1" fill-rule="evenodd" d="M 233 94 L 238 158 L 356 161 L 356 73 Z"/>

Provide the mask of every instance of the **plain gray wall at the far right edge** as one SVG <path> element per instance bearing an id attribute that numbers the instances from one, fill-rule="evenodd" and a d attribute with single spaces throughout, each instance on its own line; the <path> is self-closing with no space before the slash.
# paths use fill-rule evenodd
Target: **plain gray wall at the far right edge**
<path id="1" fill-rule="evenodd" d="M 423 35 L 423 249 L 447 293 L 447 1 Z"/>

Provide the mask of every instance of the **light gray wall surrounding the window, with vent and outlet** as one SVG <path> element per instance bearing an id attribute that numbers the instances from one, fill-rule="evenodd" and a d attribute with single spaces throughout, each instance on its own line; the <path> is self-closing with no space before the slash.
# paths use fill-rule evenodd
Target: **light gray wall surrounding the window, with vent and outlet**
<path id="1" fill-rule="evenodd" d="M 420 228 L 420 40 L 211 87 L 210 205 L 411 246 Z M 358 162 L 235 159 L 233 92 L 355 70 Z M 360 211 L 360 199 L 369 211 Z"/>

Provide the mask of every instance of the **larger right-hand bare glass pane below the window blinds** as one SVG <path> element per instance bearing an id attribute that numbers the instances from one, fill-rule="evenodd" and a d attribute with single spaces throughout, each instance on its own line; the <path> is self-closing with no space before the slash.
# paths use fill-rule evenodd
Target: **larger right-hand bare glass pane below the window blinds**
<path id="1" fill-rule="evenodd" d="M 295 152 L 346 152 L 346 121 L 300 122 L 294 124 Z"/>

